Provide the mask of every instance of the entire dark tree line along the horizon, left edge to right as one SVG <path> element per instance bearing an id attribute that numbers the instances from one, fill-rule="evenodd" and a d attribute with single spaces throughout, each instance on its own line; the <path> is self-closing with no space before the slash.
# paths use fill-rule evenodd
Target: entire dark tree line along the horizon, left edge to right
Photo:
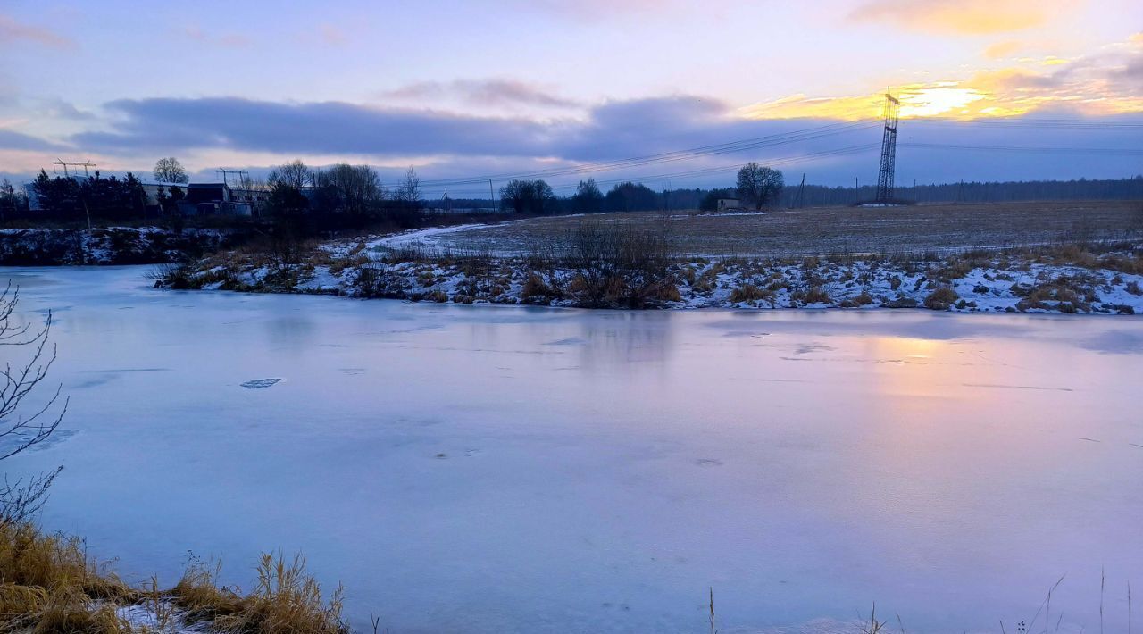
<path id="1" fill-rule="evenodd" d="M 47 217 L 63 222 L 89 218 L 127 219 L 143 217 L 149 210 L 162 216 L 181 216 L 181 201 L 189 180 L 182 163 L 168 157 L 155 162 L 155 180 L 167 183 L 147 204 L 143 184 L 134 174 L 123 178 L 51 177 L 40 170 L 33 188 Z M 423 223 L 424 198 L 421 180 L 410 168 L 403 178 L 386 187 L 369 166 L 338 163 L 312 168 L 296 160 L 271 169 L 264 182 L 245 182 L 240 190 L 257 191 L 247 196 L 255 216 L 288 220 L 305 233 L 341 228 L 361 228 L 377 224 L 399 228 Z M 581 180 L 575 193 L 559 196 L 542 179 L 513 179 L 499 188 L 498 209 L 512 215 L 597 214 L 654 210 L 718 210 L 720 199 L 734 199 L 743 208 L 834 207 L 854 204 L 876 196 L 876 187 L 823 185 L 785 186 L 781 171 L 750 162 L 738 170 L 733 186 L 713 188 L 673 188 L 655 191 L 634 180 L 613 185 L 606 193 L 594 178 Z M 1140 200 L 1143 176 L 1124 179 L 966 182 L 898 186 L 897 198 L 916 202 L 1005 202 L 1021 200 Z M 466 207 L 487 208 L 496 201 L 466 199 L 451 201 Z M 157 209 L 155 209 L 157 208 Z M 0 222 L 26 215 L 29 206 L 22 192 L 0 182 Z"/>

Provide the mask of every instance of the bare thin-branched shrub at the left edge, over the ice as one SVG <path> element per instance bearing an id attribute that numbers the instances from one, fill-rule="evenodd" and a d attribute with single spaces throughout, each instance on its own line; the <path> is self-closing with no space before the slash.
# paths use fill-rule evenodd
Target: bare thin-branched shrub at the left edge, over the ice
<path id="1" fill-rule="evenodd" d="M 0 460 L 48 440 L 67 411 L 67 399 L 56 407 L 62 386 L 56 386 L 47 403 L 33 407 L 30 414 L 18 411 L 24 399 L 47 378 L 56 360 L 55 345 L 48 348 L 51 313 L 38 330 L 31 323 L 21 326 L 14 318 L 18 303 L 19 289 L 8 282 L 0 292 L 0 346 L 26 346 L 31 354 L 24 363 L 6 362 L 0 369 Z M 48 489 L 62 470 L 56 467 L 15 482 L 5 474 L 3 485 L 0 485 L 0 525 L 22 523 L 34 515 L 43 506 Z"/>

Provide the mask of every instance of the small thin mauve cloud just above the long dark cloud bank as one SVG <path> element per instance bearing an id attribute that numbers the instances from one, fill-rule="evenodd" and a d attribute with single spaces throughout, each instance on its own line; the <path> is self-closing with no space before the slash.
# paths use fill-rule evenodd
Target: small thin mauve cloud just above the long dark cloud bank
<path id="1" fill-rule="evenodd" d="M 481 106 L 529 105 L 569 109 L 581 105 L 575 99 L 560 97 L 534 85 L 510 79 L 422 81 L 387 90 L 382 93 L 381 97 L 414 103 L 455 98 Z"/>

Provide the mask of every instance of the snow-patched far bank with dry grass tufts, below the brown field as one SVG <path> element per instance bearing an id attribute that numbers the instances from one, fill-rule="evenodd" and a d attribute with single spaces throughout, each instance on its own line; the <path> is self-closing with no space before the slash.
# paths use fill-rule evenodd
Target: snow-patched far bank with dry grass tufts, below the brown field
<path id="1" fill-rule="evenodd" d="M 605 308 L 929 308 L 1143 312 L 1140 244 L 952 255 L 676 258 L 654 243 L 580 256 L 418 249 L 384 236 L 329 242 L 291 262 L 256 249 L 157 274 L 175 289 L 326 294 L 454 304 Z M 630 252 L 628 252 L 630 251 Z M 650 252 L 652 255 L 646 255 Z"/>

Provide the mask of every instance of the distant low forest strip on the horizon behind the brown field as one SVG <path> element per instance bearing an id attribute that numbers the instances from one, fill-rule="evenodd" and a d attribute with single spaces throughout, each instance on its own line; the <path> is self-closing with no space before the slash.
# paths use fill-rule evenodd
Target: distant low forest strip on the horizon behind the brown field
<path id="1" fill-rule="evenodd" d="M 622 194 L 624 195 L 621 195 Z M 1143 200 L 1143 175 L 1134 178 L 1089 180 L 1029 180 L 1007 183 L 946 183 L 941 185 L 897 186 L 896 198 L 925 202 L 1015 202 L 1030 200 Z M 877 187 L 826 187 L 786 182 L 778 194 L 778 207 L 844 207 L 872 200 Z M 613 187 L 602 200 L 602 211 L 658 211 L 714 209 L 720 198 L 737 198 L 734 187 L 654 191 L 641 184 L 624 183 Z M 499 207 L 489 199 L 432 200 L 431 208 L 493 209 Z M 573 198 L 555 201 L 559 212 L 575 212 Z"/>

